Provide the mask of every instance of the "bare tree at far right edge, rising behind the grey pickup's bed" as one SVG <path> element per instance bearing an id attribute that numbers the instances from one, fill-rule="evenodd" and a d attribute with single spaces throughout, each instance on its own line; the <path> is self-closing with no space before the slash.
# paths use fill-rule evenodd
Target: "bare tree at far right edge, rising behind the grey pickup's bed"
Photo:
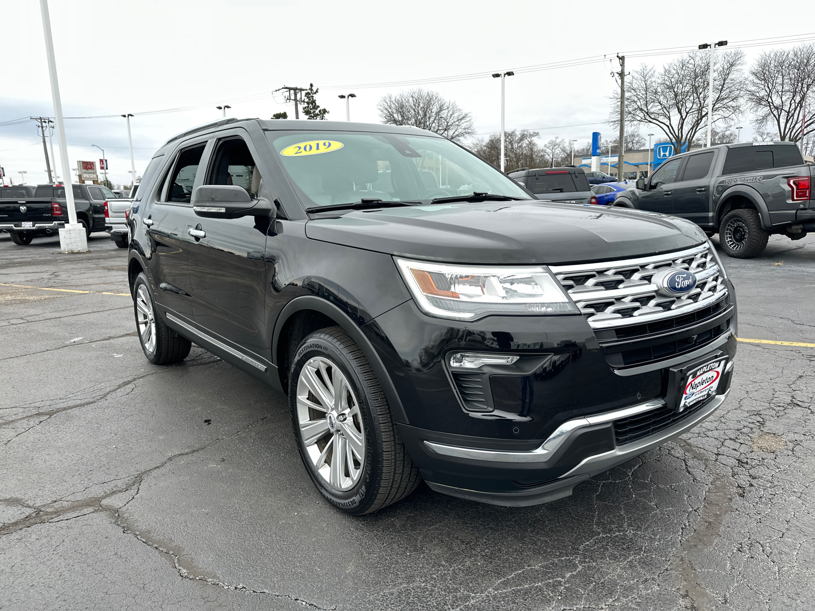
<path id="1" fill-rule="evenodd" d="M 747 104 L 757 130 L 769 130 L 778 139 L 798 142 L 815 132 L 813 107 L 815 45 L 765 51 L 750 68 Z M 808 126 L 802 125 L 804 113 Z M 803 133 L 802 133 L 803 130 Z M 768 138 L 769 139 L 769 138 Z"/>

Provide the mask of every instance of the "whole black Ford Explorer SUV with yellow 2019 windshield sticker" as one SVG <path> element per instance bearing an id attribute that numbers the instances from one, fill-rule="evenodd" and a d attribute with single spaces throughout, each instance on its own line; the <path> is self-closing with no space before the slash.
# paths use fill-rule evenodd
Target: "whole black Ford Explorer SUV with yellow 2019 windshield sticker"
<path id="1" fill-rule="evenodd" d="M 161 147 L 128 222 L 147 358 L 195 342 L 287 393 L 346 512 L 421 478 L 558 499 L 729 389 L 735 295 L 698 226 L 535 200 L 424 130 L 217 121 Z"/>

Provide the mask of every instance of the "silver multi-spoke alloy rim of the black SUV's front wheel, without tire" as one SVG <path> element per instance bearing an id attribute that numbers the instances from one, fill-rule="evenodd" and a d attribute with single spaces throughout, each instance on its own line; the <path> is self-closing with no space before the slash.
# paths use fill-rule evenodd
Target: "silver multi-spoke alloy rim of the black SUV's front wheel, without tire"
<path id="1" fill-rule="evenodd" d="M 356 486 L 365 466 L 362 414 L 346 376 L 328 358 L 311 358 L 300 371 L 297 424 L 319 477 L 341 492 Z"/>

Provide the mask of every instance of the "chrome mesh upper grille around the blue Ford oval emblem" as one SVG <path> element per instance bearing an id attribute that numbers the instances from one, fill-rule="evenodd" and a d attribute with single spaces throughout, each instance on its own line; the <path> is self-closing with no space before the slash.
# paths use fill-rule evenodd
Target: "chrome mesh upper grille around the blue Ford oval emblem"
<path id="1" fill-rule="evenodd" d="M 682 297 L 663 296 L 651 277 L 665 267 L 693 272 L 696 287 Z M 727 295 L 709 243 L 652 257 L 550 269 L 595 329 L 649 323 L 690 313 Z"/>

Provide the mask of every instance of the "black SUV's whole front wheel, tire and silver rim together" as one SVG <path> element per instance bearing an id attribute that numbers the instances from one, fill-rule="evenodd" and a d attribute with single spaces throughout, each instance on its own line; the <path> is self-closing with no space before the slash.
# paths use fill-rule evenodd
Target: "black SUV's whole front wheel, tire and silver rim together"
<path id="1" fill-rule="evenodd" d="M 307 336 L 292 360 L 294 437 L 317 490 L 353 515 L 376 512 L 410 495 L 421 481 L 419 469 L 359 346 L 341 327 L 329 327 Z M 342 389 L 338 405 L 335 385 Z"/>

